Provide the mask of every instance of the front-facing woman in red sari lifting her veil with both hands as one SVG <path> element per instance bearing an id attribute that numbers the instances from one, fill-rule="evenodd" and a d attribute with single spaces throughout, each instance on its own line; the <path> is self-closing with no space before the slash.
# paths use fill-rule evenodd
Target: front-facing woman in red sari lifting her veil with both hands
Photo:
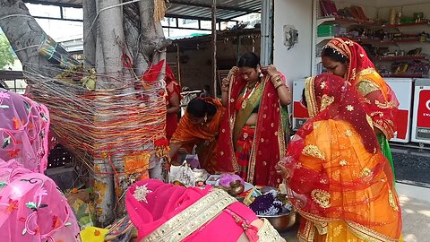
<path id="1" fill-rule="evenodd" d="M 216 169 L 237 172 L 255 185 L 280 183 L 275 165 L 285 155 L 291 92 L 274 66 L 261 67 L 254 53 L 240 57 L 222 82 L 227 115 L 221 123 Z"/>

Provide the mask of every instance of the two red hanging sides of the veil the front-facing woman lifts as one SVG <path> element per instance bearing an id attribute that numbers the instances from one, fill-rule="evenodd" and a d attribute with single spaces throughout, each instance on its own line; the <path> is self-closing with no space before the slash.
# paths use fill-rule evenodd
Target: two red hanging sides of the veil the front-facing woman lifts
<path id="1" fill-rule="evenodd" d="M 281 76 L 285 82 L 285 77 Z M 235 121 L 238 112 L 247 112 L 246 115 L 251 115 L 252 110 L 258 105 L 257 100 L 252 105 L 248 104 L 249 107 L 247 106 L 245 110 L 236 110 L 236 107 L 240 106 L 236 102 L 239 101 L 239 95 L 244 90 L 245 85 L 244 78 L 239 74 L 230 78 L 228 107 L 219 131 L 218 160 L 216 164 L 216 170 L 219 172 L 237 172 L 234 134 L 240 133 L 243 127 L 235 127 Z M 264 75 L 260 85 L 263 85 L 263 91 L 259 101 L 260 108 L 257 124 L 255 125 L 254 143 L 246 180 L 255 185 L 276 186 L 281 180 L 276 173 L 275 165 L 285 155 L 284 127 L 281 117 L 282 107 L 278 92 L 271 84 L 271 77 Z M 253 96 L 250 99 L 252 98 Z"/>

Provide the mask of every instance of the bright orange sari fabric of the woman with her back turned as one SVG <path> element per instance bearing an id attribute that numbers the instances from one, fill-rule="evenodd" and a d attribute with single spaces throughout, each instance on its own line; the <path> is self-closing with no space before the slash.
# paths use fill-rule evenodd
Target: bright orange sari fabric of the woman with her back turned
<path id="1" fill-rule="evenodd" d="M 369 177 L 366 182 L 372 185 L 348 192 L 342 191 L 341 185 L 333 186 L 329 196 L 314 189 L 314 201 L 333 209 L 325 212 L 324 217 L 303 212 L 305 223 L 311 223 L 307 226 L 312 229 L 307 233 L 301 229 L 299 238 L 303 241 L 398 241 L 401 218 L 396 191 L 383 169 L 371 174 L 380 165 L 383 154 L 367 152 L 351 125 L 334 120 L 315 122 L 305 147 L 315 148 L 302 154 L 303 168 L 323 172 L 330 180 L 343 184 Z M 345 219 L 339 220 L 340 216 Z M 314 238 L 307 238 L 312 230 Z"/>

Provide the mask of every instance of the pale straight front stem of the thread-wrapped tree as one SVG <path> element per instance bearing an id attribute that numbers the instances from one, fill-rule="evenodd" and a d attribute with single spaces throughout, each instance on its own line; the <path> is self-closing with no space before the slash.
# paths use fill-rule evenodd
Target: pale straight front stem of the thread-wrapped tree
<path id="1" fill-rule="evenodd" d="M 101 44 L 101 48 L 97 47 L 100 53 L 97 53 L 97 57 L 102 57 L 104 68 L 98 66 L 101 71 L 102 77 L 98 80 L 98 86 L 103 88 L 102 90 L 114 90 L 125 85 L 125 75 L 123 73 L 123 63 L 121 56 L 123 56 L 123 50 L 125 49 L 125 38 L 123 29 L 123 12 L 122 7 L 112 7 L 121 4 L 120 0 L 99 0 L 99 36 L 98 41 Z M 101 63 L 100 59 L 96 60 L 97 63 Z M 115 95 L 114 92 L 107 94 Z M 101 100 L 95 100 L 99 103 L 99 112 L 95 117 L 96 125 L 95 128 L 104 126 L 112 116 L 108 110 L 112 107 L 111 103 L 114 103 L 114 97 L 105 97 Z M 115 117 L 114 117 L 115 118 Z M 99 125 L 97 124 L 99 122 Z M 101 130 L 100 130 L 101 131 Z M 97 142 L 97 141 L 96 141 Z M 102 157 L 102 152 L 96 151 L 98 157 Z M 98 196 L 98 203 L 96 203 L 96 211 L 98 215 L 99 223 L 106 226 L 115 219 L 116 212 L 116 197 L 119 197 L 119 193 L 122 189 L 117 187 L 115 184 L 116 180 L 120 177 L 114 174 L 114 168 L 119 169 L 124 167 L 122 157 L 118 157 L 113 153 L 107 154 L 106 159 L 94 160 L 95 169 L 101 169 L 101 173 L 95 173 L 95 185 L 101 189 L 95 189 L 95 193 Z M 110 162 L 107 162 L 110 159 Z M 103 174 L 103 170 L 107 173 Z M 108 175 L 107 175 L 108 174 Z M 118 184 L 117 184 L 118 185 Z M 106 188 L 106 189 L 103 189 Z"/>

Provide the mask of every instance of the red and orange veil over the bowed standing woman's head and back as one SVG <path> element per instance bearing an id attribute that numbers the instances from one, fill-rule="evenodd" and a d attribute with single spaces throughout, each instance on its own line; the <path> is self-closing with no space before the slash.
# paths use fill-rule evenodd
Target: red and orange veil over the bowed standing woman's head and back
<path id="1" fill-rule="evenodd" d="M 348 58 L 348 71 L 345 79 L 357 88 L 365 98 L 367 113 L 374 126 L 383 131 L 390 140 L 396 131 L 395 118 L 399 101 L 390 86 L 376 72 L 364 48 L 345 38 L 334 38 L 324 48 L 333 48 Z"/>

